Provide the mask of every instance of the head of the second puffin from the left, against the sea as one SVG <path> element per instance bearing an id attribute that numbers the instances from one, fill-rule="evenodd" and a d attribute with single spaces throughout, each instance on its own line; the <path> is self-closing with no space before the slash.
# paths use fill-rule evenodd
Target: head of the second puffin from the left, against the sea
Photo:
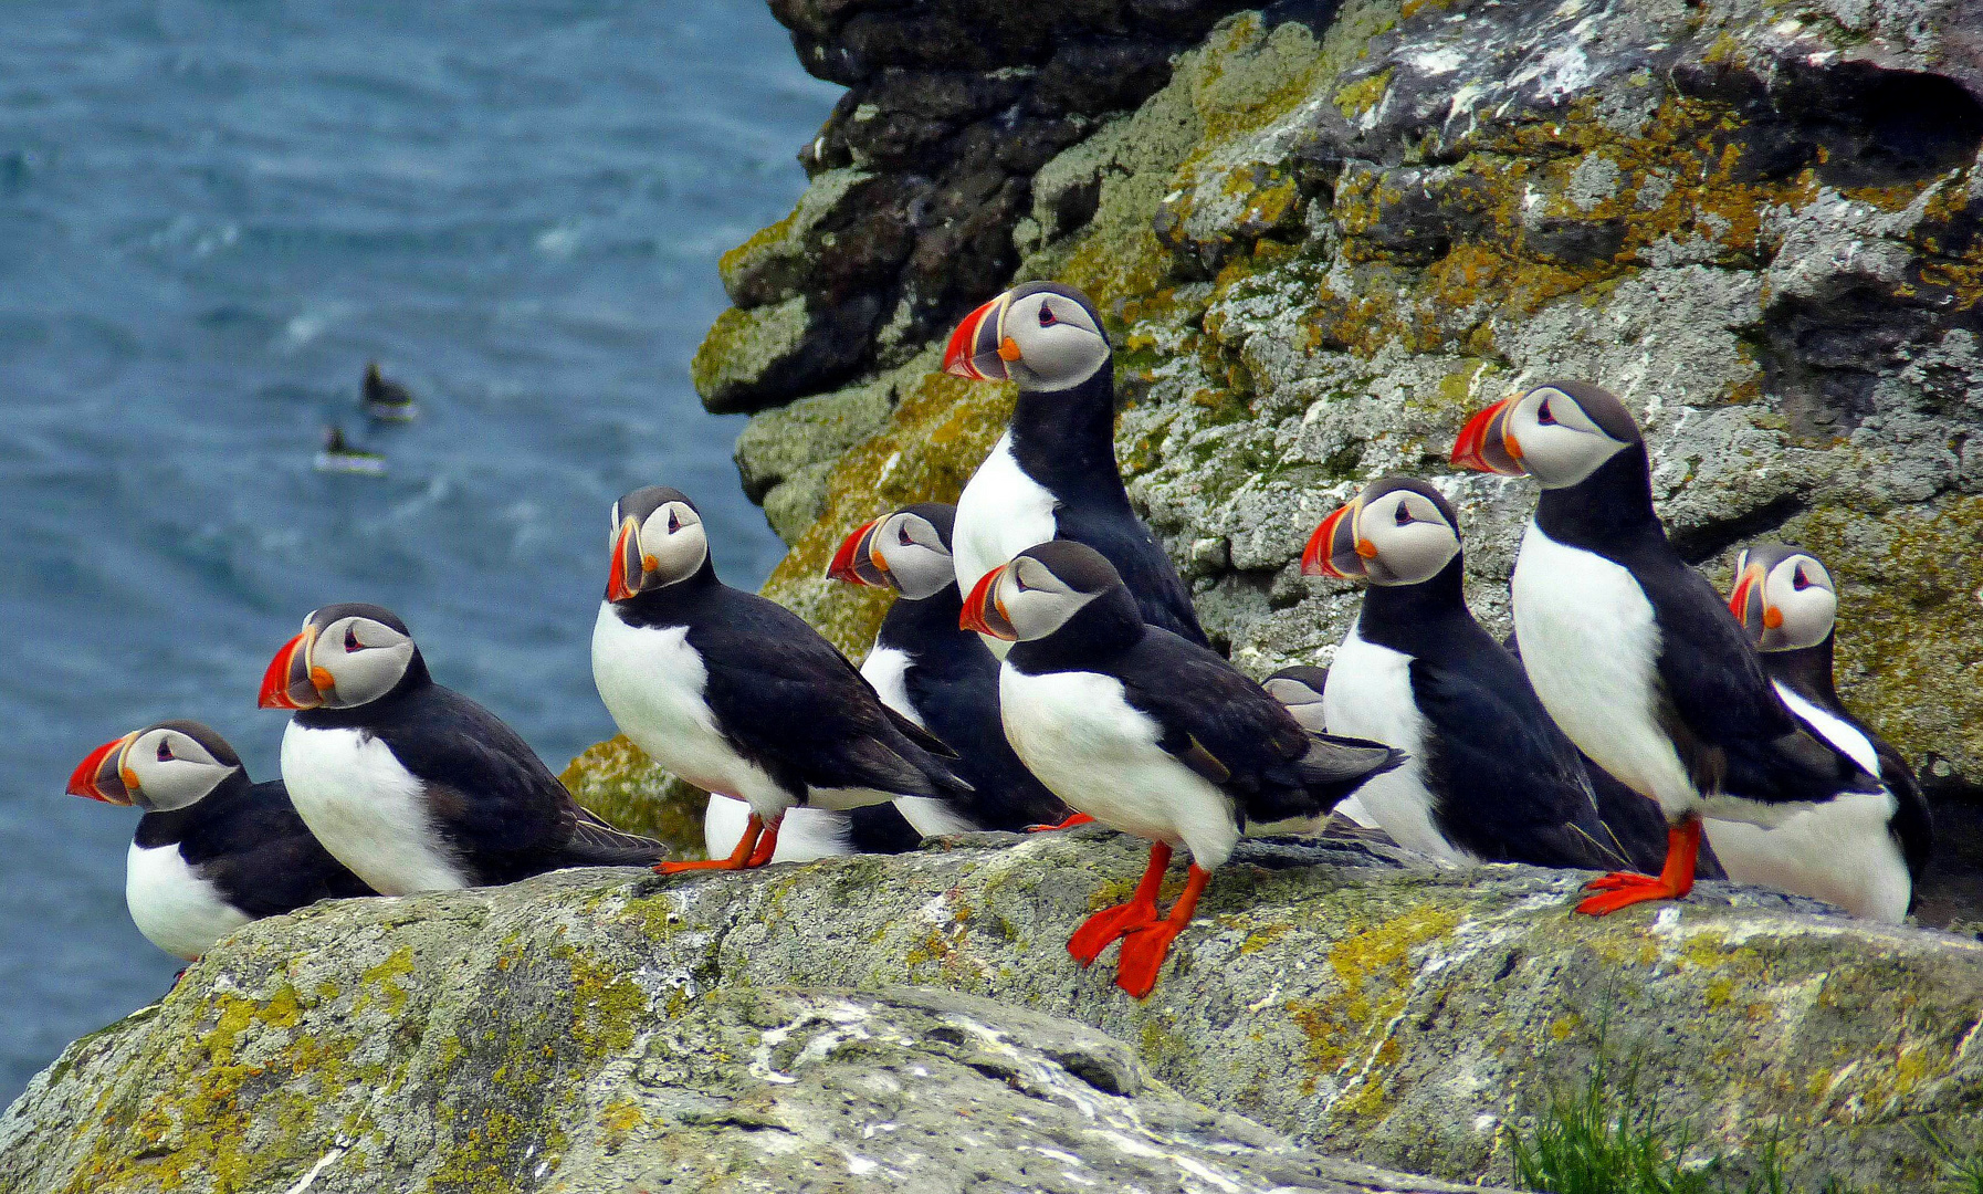
<path id="1" fill-rule="evenodd" d="M 347 601 L 303 619 L 262 676 L 262 708 L 357 708 L 426 674 L 412 631 L 391 609 Z"/>

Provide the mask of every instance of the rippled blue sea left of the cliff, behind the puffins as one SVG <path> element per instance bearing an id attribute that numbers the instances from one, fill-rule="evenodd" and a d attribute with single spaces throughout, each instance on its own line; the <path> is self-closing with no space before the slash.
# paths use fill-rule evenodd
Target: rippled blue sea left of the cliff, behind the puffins
<path id="1" fill-rule="evenodd" d="M 561 768 L 613 724 L 607 510 L 694 494 L 779 555 L 688 359 L 716 258 L 803 188 L 835 89 L 763 0 L 16 0 L 0 18 L 0 1101 L 167 990 L 135 813 L 63 795 L 149 720 L 256 777 L 270 655 L 329 601 Z M 422 399 L 367 430 L 379 357 Z M 323 476 L 327 420 L 385 478 Z"/>

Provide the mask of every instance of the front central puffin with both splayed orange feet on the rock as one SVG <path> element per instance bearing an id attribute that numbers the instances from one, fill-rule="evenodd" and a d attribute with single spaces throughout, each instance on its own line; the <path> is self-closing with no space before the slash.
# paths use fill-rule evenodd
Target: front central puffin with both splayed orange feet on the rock
<path id="1" fill-rule="evenodd" d="M 1319 819 L 1404 762 L 1378 742 L 1303 730 L 1220 655 L 1148 625 L 1087 543 L 1039 543 L 986 573 L 964 599 L 964 625 L 1013 643 L 999 708 L 1025 766 L 1071 807 L 1150 841 L 1130 900 L 1089 916 L 1067 942 L 1089 966 L 1122 938 L 1116 986 L 1138 1000 L 1243 831 Z M 1192 855 L 1184 893 L 1158 918 L 1180 845 Z"/>

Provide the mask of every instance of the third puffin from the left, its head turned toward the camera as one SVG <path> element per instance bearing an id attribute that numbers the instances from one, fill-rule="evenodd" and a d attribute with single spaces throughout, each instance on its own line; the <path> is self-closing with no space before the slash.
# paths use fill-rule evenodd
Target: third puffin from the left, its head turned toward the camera
<path id="1" fill-rule="evenodd" d="M 593 623 L 593 682 L 656 764 L 750 803 L 730 855 L 660 871 L 761 867 L 779 819 L 902 795 L 960 803 L 972 785 L 934 734 L 894 712 L 789 609 L 716 579 L 708 532 L 680 490 L 613 504 L 611 573 Z"/>

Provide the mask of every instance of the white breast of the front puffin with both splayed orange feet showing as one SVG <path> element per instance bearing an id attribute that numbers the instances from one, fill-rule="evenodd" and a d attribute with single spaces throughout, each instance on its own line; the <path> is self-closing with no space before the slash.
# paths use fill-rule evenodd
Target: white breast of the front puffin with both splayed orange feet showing
<path id="1" fill-rule="evenodd" d="M 1239 841 L 1225 793 L 1174 760 L 1162 728 L 1099 672 L 999 670 L 1005 738 L 1019 762 L 1069 807 L 1150 841 L 1186 845 L 1206 867 Z"/>

